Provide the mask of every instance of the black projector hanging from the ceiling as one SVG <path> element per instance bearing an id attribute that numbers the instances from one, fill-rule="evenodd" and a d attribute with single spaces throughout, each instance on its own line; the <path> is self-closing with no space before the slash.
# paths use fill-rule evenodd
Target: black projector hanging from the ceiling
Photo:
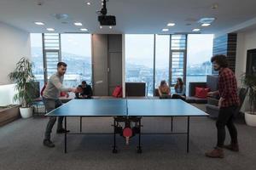
<path id="1" fill-rule="evenodd" d="M 107 7 L 106 7 L 106 0 L 103 0 L 102 9 L 98 11 L 98 21 L 100 22 L 101 26 L 116 26 L 115 16 L 107 15 Z"/>

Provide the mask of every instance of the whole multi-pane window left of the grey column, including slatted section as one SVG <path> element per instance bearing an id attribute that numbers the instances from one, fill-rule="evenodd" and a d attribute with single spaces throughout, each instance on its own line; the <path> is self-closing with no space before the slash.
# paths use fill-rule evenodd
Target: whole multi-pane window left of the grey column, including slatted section
<path id="1" fill-rule="evenodd" d="M 31 47 L 33 73 L 41 88 L 59 61 L 67 63 L 65 86 L 77 87 L 83 80 L 91 83 L 90 34 L 44 34 L 44 41 L 42 34 L 31 34 Z"/>

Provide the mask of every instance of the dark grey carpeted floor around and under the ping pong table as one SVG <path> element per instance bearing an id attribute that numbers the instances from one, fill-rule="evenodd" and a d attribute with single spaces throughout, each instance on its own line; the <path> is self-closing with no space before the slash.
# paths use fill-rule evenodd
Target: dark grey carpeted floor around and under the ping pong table
<path id="1" fill-rule="evenodd" d="M 84 118 L 84 132 L 113 132 L 111 118 Z M 189 170 L 254 170 L 256 169 L 256 127 L 236 122 L 241 151 L 225 150 L 224 159 L 210 159 L 205 151 L 216 143 L 215 122 L 208 117 L 192 117 L 190 150 L 186 153 L 184 135 L 143 135 L 143 154 L 137 154 L 137 137 L 131 144 L 118 136 L 118 154 L 112 153 L 113 136 L 69 135 L 67 154 L 64 138 L 52 133 L 55 148 L 44 147 L 44 128 L 47 118 L 19 119 L 0 127 L 0 169 L 189 169 Z M 69 118 L 68 128 L 79 132 L 79 118 Z M 174 118 L 174 130 L 186 130 L 186 119 Z M 143 132 L 169 132 L 169 118 L 143 118 Z M 230 141 L 227 133 L 226 143 Z"/>

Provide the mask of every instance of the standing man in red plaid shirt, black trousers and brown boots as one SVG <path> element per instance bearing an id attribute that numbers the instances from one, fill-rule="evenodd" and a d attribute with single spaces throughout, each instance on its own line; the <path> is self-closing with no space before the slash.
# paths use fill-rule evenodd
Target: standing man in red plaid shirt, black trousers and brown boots
<path id="1" fill-rule="evenodd" d="M 219 94 L 218 100 L 218 119 L 216 122 L 218 142 L 217 146 L 206 153 L 208 157 L 224 157 L 223 148 L 232 151 L 238 151 L 237 131 L 233 122 L 233 116 L 239 105 L 237 96 L 236 76 L 228 68 L 228 60 L 225 55 L 215 55 L 211 59 L 215 71 L 218 71 L 218 91 L 210 92 L 208 95 Z M 225 126 L 228 127 L 231 137 L 231 143 L 224 145 Z"/>

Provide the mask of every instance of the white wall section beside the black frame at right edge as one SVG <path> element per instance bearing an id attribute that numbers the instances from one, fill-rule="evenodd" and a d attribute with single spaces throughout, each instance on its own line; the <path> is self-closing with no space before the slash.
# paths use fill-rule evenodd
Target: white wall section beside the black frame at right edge
<path id="1" fill-rule="evenodd" d="M 236 77 L 241 85 L 241 74 L 245 73 L 247 66 L 247 50 L 256 48 L 256 30 L 238 33 L 236 46 Z"/>

